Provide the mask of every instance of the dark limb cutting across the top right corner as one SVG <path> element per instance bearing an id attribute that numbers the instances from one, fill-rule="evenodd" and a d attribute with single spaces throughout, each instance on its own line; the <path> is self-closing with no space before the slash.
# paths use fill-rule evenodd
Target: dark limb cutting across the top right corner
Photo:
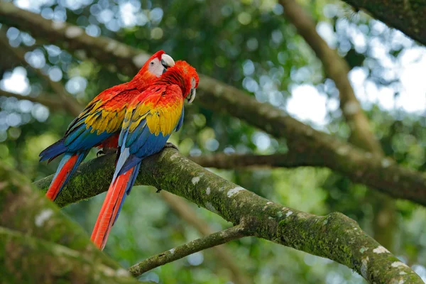
<path id="1" fill-rule="evenodd" d="M 356 9 L 362 9 L 397 28 L 410 38 L 426 45 L 426 2 L 423 0 L 342 0 Z"/>

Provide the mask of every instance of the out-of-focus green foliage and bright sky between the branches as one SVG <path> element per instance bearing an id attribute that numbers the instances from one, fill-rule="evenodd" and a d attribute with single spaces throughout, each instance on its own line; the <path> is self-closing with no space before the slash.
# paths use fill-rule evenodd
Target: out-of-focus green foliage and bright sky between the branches
<path id="1" fill-rule="evenodd" d="M 349 64 L 349 80 L 384 152 L 401 165 L 425 171 L 426 48 L 341 1 L 298 1 L 317 22 L 317 32 Z M 115 38 L 150 53 L 163 49 L 187 60 L 204 75 L 244 89 L 315 129 L 349 137 L 339 96 L 320 60 L 273 0 L 18 0 L 13 4 L 54 21 L 84 28 L 88 35 Z M 81 104 L 107 87 L 131 79 L 120 70 L 77 59 L 28 33 L 1 26 L 28 65 L 0 54 L 0 89 L 37 97 L 50 90 L 34 68 Z M 0 159 L 38 180 L 55 172 L 58 160 L 38 163 L 38 153 L 62 136 L 73 116 L 26 99 L 0 96 Z M 170 139 L 185 155 L 285 153 L 277 140 L 232 117 L 187 106 L 182 131 Z M 89 158 L 94 158 L 95 152 Z M 380 234 L 381 195 L 371 195 L 324 168 L 215 170 L 214 173 L 270 200 L 313 214 L 339 211 L 385 243 L 426 280 L 426 210 L 408 201 L 389 201 L 386 234 Z M 89 233 L 104 195 L 64 209 Z M 386 203 L 385 202 L 385 203 Z M 189 204 L 203 226 L 227 224 Z M 105 252 L 124 267 L 200 237 L 152 187 L 136 187 L 109 237 Z M 253 283 L 364 283 L 349 268 L 256 238 L 225 246 L 239 273 Z M 232 283 L 229 267 L 212 249 L 195 253 L 141 276 L 155 283 Z"/>

